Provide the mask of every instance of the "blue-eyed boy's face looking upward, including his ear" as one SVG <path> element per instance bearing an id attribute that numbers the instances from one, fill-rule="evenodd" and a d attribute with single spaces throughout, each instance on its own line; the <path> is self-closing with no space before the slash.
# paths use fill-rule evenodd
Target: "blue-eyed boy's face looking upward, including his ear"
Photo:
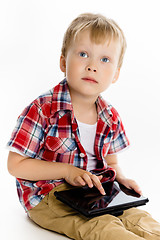
<path id="1" fill-rule="evenodd" d="M 60 67 L 66 74 L 72 94 L 95 98 L 116 82 L 121 46 L 116 40 L 108 45 L 96 44 L 90 39 L 90 32 L 79 33 L 68 49 L 67 56 L 61 56 Z"/>

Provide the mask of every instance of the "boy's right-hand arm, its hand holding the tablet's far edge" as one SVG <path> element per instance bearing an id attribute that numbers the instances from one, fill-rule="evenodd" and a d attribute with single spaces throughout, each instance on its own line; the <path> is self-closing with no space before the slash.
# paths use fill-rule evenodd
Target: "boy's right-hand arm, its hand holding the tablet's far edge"
<path id="1" fill-rule="evenodd" d="M 124 174 L 118 164 L 117 155 L 107 155 L 105 157 L 105 160 L 106 160 L 108 166 L 110 166 L 116 170 L 116 180 L 119 183 L 123 184 L 125 187 L 127 187 L 129 189 L 134 189 L 140 195 L 142 194 L 141 189 L 138 186 L 138 184 L 134 180 L 128 179 L 124 176 Z"/>

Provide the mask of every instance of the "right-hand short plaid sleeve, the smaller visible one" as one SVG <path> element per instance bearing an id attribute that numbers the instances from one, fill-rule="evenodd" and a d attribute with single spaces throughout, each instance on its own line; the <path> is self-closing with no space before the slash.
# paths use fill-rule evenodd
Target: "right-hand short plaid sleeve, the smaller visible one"
<path id="1" fill-rule="evenodd" d="M 110 143 L 109 151 L 107 154 L 116 154 L 130 145 L 126 136 L 121 120 L 118 120 L 117 128 L 113 132 L 113 137 Z"/>

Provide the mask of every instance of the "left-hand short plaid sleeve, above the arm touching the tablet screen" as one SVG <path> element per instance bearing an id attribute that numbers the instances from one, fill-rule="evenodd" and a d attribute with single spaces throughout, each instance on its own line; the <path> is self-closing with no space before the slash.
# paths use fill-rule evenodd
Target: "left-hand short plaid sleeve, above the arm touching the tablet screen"
<path id="1" fill-rule="evenodd" d="M 32 103 L 18 117 L 8 146 L 35 158 L 44 141 L 45 120 L 41 108 Z"/>

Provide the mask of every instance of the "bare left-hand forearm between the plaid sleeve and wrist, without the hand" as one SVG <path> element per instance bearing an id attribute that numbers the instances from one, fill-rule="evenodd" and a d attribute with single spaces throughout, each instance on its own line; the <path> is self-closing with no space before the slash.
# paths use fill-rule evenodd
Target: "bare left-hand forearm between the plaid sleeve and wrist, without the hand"
<path id="1" fill-rule="evenodd" d="M 11 175 L 30 181 L 55 180 L 67 175 L 66 163 L 47 162 L 40 159 L 22 158 L 16 153 L 8 157 L 8 170 Z"/>

